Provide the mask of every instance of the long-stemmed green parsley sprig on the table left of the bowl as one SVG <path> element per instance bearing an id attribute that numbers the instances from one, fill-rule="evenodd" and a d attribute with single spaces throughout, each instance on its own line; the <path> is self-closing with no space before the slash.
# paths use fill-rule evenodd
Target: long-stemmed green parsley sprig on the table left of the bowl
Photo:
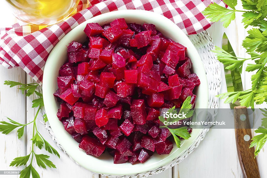
<path id="1" fill-rule="evenodd" d="M 14 82 L 14 81 L 5 81 L 5 85 L 9 85 L 10 87 L 14 86 L 19 86 L 19 90 L 22 91 L 22 93 L 25 93 L 26 96 L 31 96 L 32 94 L 36 94 L 38 96 L 37 99 L 32 101 L 32 108 L 38 108 L 36 115 L 33 119 L 33 121 L 27 123 L 27 124 L 20 124 L 10 118 L 7 117 L 9 122 L 6 121 L 1 121 L 0 123 L 0 132 L 3 134 L 9 134 L 12 130 L 19 128 L 17 130 L 18 133 L 18 139 L 20 139 L 23 134 L 24 134 L 24 129 L 26 125 L 33 124 L 33 136 L 32 136 L 32 148 L 29 153 L 29 155 L 26 156 L 21 156 L 15 158 L 11 163 L 10 166 L 22 166 L 22 165 L 27 165 L 27 163 L 30 160 L 30 163 L 21 171 L 20 178 L 25 178 L 25 177 L 30 177 L 32 175 L 33 178 L 40 178 L 40 175 L 38 172 L 34 169 L 33 167 L 33 160 L 34 158 L 36 159 L 36 163 L 39 167 L 42 168 L 56 168 L 56 166 L 52 163 L 52 161 L 49 160 L 48 155 L 44 154 L 37 154 L 34 151 L 34 145 L 36 145 L 39 149 L 42 149 L 42 147 L 45 147 L 45 150 L 49 153 L 52 153 L 60 158 L 59 153 L 54 149 L 45 139 L 44 137 L 40 134 L 40 132 L 37 130 L 37 125 L 36 125 L 36 119 L 37 116 L 41 110 L 41 108 L 44 106 L 44 100 L 43 100 L 43 95 L 42 93 L 36 91 L 38 84 L 33 83 L 33 84 L 22 84 L 20 82 Z M 44 121 L 47 122 L 47 117 L 46 114 L 44 115 Z"/>

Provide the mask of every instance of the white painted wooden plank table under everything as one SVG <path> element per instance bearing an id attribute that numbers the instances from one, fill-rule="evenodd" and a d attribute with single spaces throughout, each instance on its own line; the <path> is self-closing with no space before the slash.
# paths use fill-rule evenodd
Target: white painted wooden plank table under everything
<path id="1" fill-rule="evenodd" d="M 238 5 L 241 9 L 240 4 Z M 0 2 L 0 27 L 8 27 L 16 22 L 16 18 L 11 14 L 9 7 L 2 1 Z M 207 31 L 210 33 L 215 45 L 221 46 L 223 32 L 226 32 L 237 56 L 245 57 L 245 49 L 242 48 L 242 40 L 246 35 L 246 30 L 241 25 L 241 14 L 237 14 L 237 18 L 231 25 L 224 29 L 221 23 L 216 23 Z M 246 62 L 246 64 L 249 62 Z M 222 68 L 223 69 L 223 68 Z M 244 88 L 250 88 L 250 74 L 243 73 L 242 80 Z M 222 70 L 222 89 L 226 92 L 226 84 Z M 22 83 L 31 83 L 33 80 L 20 68 L 6 69 L 0 67 L 0 120 L 6 120 L 5 116 L 12 118 L 20 123 L 28 123 L 33 120 L 36 110 L 32 109 L 32 99 L 25 97 L 16 88 L 9 88 L 3 85 L 5 80 L 19 81 Z M 220 102 L 220 108 L 229 108 L 228 104 Z M 266 107 L 266 106 L 261 106 Z M 40 117 L 40 116 L 39 116 Z M 54 148 L 56 144 L 52 142 L 46 129 L 41 123 L 38 123 L 38 130 L 48 140 Z M 16 130 L 9 135 L 0 134 L 0 170 L 21 170 L 23 167 L 9 167 L 11 161 L 18 156 L 29 154 L 32 138 L 32 126 L 28 126 L 24 136 L 18 140 Z M 264 147 L 266 149 L 266 145 Z M 86 177 L 98 178 L 102 177 L 92 173 L 69 159 L 61 150 L 57 148 L 61 155 L 58 159 L 52 155 L 51 160 L 57 166 L 57 169 L 42 169 L 38 166 L 37 171 L 41 177 Z M 40 153 L 37 150 L 37 153 Z M 262 149 L 258 156 L 258 164 L 260 167 L 261 177 L 267 177 L 266 170 L 267 152 Z M 0 177 L 19 177 L 17 175 L 9 175 Z M 194 150 L 185 160 L 173 168 L 151 176 L 151 178 L 195 178 L 195 177 L 243 177 L 239 166 L 237 151 L 235 146 L 234 129 L 211 129 L 205 139 L 200 143 L 199 147 Z"/>

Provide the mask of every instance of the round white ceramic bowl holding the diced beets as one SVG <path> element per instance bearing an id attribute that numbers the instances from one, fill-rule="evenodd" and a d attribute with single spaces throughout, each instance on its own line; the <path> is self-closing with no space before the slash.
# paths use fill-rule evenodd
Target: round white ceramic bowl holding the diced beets
<path id="1" fill-rule="evenodd" d="M 113 157 L 108 155 L 108 153 L 101 155 L 98 158 L 86 155 L 86 153 L 78 147 L 78 143 L 71 137 L 71 135 L 64 130 L 64 126 L 62 125 L 61 121 L 58 120 L 56 115 L 59 104 L 57 103 L 56 98 L 53 96 L 53 93 L 58 88 L 58 71 L 62 64 L 64 64 L 64 62 L 67 60 L 66 46 L 68 46 L 68 44 L 73 40 L 77 42 L 84 42 L 86 40 L 86 35 L 83 30 L 87 23 L 97 22 L 100 25 L 104 25 L 105 23 L 110 23 L 116 18 L 125 18 L 127 23 L 136 22 L 143 24 L 146 22 L 155 24 L 156 29 L 159 30 L 165 37 L 171 38 L 187 47 L 186 55 L 190 57 L 193 62 L 192 70 L 198 75 L 201 81 L 201 84 L 198 86 L 198 89 L 195 93 L 197 95 L 195 108 L 207 108 L 207 79 L 202 61 L 189 38 L 169 19 L 150 11 L 120 10 L 98 15 L 75 27 L 53 48 L 45 64 L 43 95 L 45 111 L 48 116 L 49 124 L 53 129 L 58 141 L 70 157 L 90 171 L 105 175 L 134 175 L 137 173 L 155 170 L 174 160 L 181 153 L 186 151 L 191 144 L 194 143 L 194 140 L 198 137 L 201 129 L 193 129 L 190 139 L 182 141 L 181 148 L 178 149 L 174 143 L 174 148 L 169 155 L 158 155 L 155 153 L 144 164 L 138 163 L 135 165 L 132 165 L 131 163 L 113 164 Z"/>

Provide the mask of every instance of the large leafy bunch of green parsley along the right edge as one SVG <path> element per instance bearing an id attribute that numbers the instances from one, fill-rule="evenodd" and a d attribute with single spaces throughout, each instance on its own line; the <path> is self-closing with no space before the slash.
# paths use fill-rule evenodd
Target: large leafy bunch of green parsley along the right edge
<path id="1" fill-rule="evenodd" d="M 226 69 L 235 70 L 242 73 L 242 67 L 246 60 L 252 60 L 253 64 L 248 64 L 246 72 L 256 73 L 251 76 L 252 88 L 240 92 L 227 92 L 219 94 L 217 97 L 224 99 L 225 103 L 234 103 L 239 100 L 241 106 L 254 108 L 254 103 L 262 104 L 267 102 L 267 1 L 266 0 L 241 0 L 244 10 L 237 10 L 237 0 L 224 0 L 224 2 L 231 8 L 226 9 L 216 3 L 210 4 L 202 13 L 207 15 L 212 22 L 221 20 L 223 26 L 227 27 L 235 19 L 235 13 L 241 12 L 242 23 L 245 28 L 251 26 L 248 30 L 248 36 L 243 40 L 242 46 L 246 52 L 250 54 L 250 58 L 239 58 L 232 56 L 223 49 L 216 46 L 213 52 L 216 54 L 218 60 L 225 65 Z M 266 117 L 266 109 L 262 110 Z M 265 123 L 262 127 L 255 130 L 260 135 L 252 138 L 250 147 L 256 146 L 255 156 L 258 155 L 261 148 L 267 139 L 266 118 L 263 118 Z"/>

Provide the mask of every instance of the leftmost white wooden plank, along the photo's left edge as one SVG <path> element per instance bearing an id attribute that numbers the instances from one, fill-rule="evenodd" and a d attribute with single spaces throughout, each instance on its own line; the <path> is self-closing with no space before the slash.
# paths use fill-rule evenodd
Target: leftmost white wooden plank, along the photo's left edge
<path id="1" fill-rule="evenodd" d="M 12 80 L 25 83 L 25 72 L 20 68 L 6 69 L 0 68 L 0 120 L 7 121 L 9 117 L 21 124 L 25 124 L 25 95 L 17 89 L 17 87 L 9 88 L 4 85 L 5 80 Z M 0 169 L 1 170 L 22 170 L 21 167 L 9 167 L 9 164 L 15 157 L 25 156 L 25 135 L 18 139 L 17 130 L 15 129 L 8 135 L 0 134 Z M 1 177 L 1 176 L 0 176 Z M 10 175 L 10 177 L 19 177 L 18 175 Z"/>

